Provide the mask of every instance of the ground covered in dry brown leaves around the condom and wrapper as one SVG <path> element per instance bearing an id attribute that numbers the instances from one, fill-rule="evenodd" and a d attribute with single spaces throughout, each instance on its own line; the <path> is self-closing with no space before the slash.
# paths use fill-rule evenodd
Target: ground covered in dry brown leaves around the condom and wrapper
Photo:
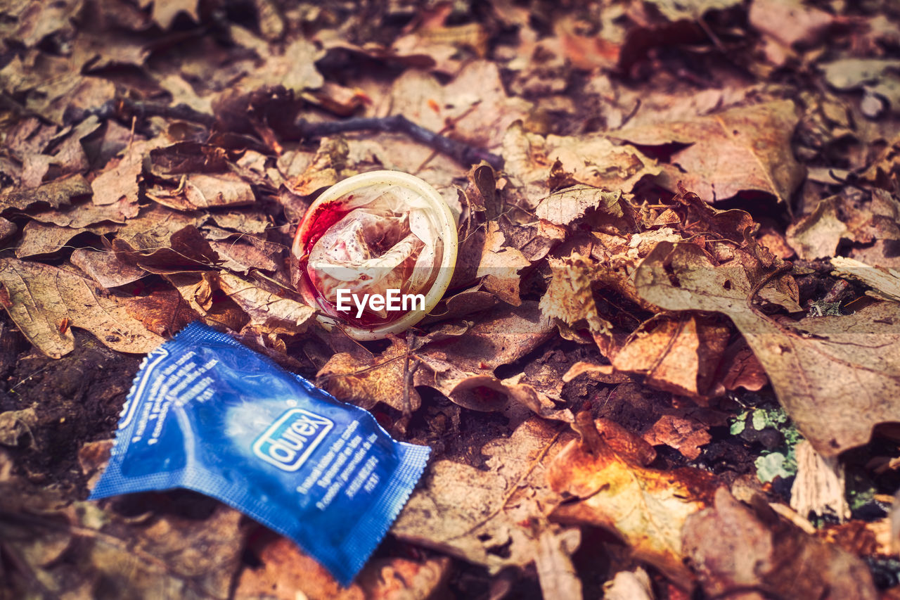
<path id="1" fill-rule="evenodd" d="M 892 3 L 0 11 L 3 597 L 900 597 Z M 288 250 L 376 168 L 460 259 L 361 344 Z M 85 502 L 195 319 L 435 450 L 352 586 L 199 495 Z"/>

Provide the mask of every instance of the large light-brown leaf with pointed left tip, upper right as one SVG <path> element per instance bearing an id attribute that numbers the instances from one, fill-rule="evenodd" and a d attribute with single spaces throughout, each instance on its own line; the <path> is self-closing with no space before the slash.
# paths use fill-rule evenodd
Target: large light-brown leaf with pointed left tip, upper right
<path id="1" fill-rule="evenodd" d="M 648 146 L 690 144 L 671 157 L 683 172 L 659 177 L 672 191 L 678 191 L 681 181 L 715 202 L 743 190 L 761 190 L 787 204 L 806 174 L 790 150 L 797 121 L 794 103 L 781 100 L 680 123 L 626 127 L 615 136 Z"/>

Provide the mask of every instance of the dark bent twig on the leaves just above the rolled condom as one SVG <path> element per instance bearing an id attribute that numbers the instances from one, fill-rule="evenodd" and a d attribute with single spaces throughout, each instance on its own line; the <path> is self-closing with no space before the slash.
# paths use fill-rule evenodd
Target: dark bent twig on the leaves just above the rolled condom
<path id="1" fill-rule="evenodd" d="M 347 132 L 398 132 L 406 133 L 415 141 L 443 152 L 447 156 L 464 165 L 476 165 L 482 160 L 493 168 L 501 168 L 503 159 L 496 154 L 475 148 L 463 141 L 452 140 L 440 133 L 435 133 L 411 122 L 402 114 L 393 114 L 386 117 L 360 117 L 345 121 L 328 121 L 325 123 L 308 123 L 301 119 L 296 123 L 297 130 L 303 138 L 321 138 L 337 133 Z"/>

